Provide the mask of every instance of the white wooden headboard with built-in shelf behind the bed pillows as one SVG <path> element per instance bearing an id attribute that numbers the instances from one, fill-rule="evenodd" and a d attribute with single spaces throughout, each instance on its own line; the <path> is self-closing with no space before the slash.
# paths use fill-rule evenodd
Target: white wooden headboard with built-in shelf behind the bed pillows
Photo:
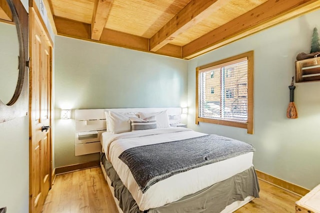
<path id="1" fill-rule="evenodd" d="M 167 110 L 170 124 L 181 122 L 181 108 L 117 108 L 75 110 L 75 156 L 101 152 L 100 136 L 106 131 L 105 111 L 160 112 Z"/>

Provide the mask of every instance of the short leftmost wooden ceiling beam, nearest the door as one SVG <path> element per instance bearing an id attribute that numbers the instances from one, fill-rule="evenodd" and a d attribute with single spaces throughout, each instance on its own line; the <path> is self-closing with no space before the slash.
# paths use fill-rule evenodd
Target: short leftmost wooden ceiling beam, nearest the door
<path id="1" fill-rule="evenodd" d="M 95 0 L 91 21 L 91 39 L 100 40 L 113 0 Z"/>

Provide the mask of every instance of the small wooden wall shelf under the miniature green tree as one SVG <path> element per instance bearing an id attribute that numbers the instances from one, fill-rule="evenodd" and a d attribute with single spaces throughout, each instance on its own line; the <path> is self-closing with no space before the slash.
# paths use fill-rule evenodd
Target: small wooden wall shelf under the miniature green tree
<path id="1" fill-rule="evenodd" d="M 320 56 L 295 61 L 295 82 L 320 81 Z"/>

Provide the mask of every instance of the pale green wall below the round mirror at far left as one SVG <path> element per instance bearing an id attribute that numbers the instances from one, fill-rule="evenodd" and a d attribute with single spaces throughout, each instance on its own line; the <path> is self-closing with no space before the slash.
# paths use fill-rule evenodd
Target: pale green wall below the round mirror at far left
<path id="1" fill-rule="evenodd" d="M 22 3 L 27 9 L 28 1 Z M 11 30 L 2 33 L 11 36 Z M 29 212 L 28 119 L 23 116 L 0 123 L 0 208 L 7 207 L 8 213 Z"/>

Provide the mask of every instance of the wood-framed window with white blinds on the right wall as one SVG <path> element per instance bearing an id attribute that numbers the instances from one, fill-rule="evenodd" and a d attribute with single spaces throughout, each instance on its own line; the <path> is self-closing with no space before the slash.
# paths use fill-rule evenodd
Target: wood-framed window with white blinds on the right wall
<path id="1" fill-rule="evenodd" d="M 196 68 L 195 123 L 199 122 L 245 128 L 253 134 L 253 51 Z"/>

